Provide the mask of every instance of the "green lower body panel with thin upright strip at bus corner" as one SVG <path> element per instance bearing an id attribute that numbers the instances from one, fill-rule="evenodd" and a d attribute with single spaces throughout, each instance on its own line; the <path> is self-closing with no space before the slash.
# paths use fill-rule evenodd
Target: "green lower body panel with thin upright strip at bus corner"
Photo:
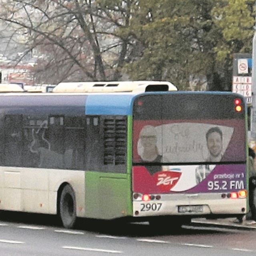
<path id="1" fill-rule="evenodd" d="M 128 116 L 127 173 L 85 173 L 85 217 L 111 220 L 132 216 L 132 116 Z"/>

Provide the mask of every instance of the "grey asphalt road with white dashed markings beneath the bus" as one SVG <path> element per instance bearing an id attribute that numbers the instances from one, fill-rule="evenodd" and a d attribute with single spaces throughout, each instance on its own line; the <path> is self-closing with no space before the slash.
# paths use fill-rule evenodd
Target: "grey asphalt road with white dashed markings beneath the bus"
<path id="1" fill-rule="evenodd" d="M 90 224 L 90 225 L 89 225 Z M 152 230 L 147 223 L 80 220 L 76 230 L 56 218 L 36 214 L 0 215 L 0 256 L 255 256 L 256 231 L 171 225 Z"/>

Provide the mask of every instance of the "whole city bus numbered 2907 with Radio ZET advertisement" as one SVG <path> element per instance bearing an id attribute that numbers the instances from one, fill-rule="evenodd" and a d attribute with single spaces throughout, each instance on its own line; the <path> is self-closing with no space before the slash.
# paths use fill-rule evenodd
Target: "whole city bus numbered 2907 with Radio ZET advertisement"
<path id="1" fill-rule="evenodd" d="M 0 94 L 0 210 L 57 214 L 65 228 L 246 214 L 243 96 L 136 84 Z"/>

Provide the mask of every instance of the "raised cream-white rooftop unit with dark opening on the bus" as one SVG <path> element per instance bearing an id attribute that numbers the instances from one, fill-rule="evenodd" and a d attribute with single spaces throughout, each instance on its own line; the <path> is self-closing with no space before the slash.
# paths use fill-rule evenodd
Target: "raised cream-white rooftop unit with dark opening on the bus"
<path id="1" fill-rule="evenodd" d="M 168 81 L 61 82 L 52 92 L 147 92 L 177 91 Z"/>

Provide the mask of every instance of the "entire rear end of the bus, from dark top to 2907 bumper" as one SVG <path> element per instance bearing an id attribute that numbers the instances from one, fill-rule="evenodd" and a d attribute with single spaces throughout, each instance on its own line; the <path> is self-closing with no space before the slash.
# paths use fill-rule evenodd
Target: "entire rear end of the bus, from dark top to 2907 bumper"
<path id="1" fill-rule="evenodd" d="M 177 225 L 242 216 L 246 104 L 228 92 L 143 94 L 133 105 L 133 216 Z"/>

